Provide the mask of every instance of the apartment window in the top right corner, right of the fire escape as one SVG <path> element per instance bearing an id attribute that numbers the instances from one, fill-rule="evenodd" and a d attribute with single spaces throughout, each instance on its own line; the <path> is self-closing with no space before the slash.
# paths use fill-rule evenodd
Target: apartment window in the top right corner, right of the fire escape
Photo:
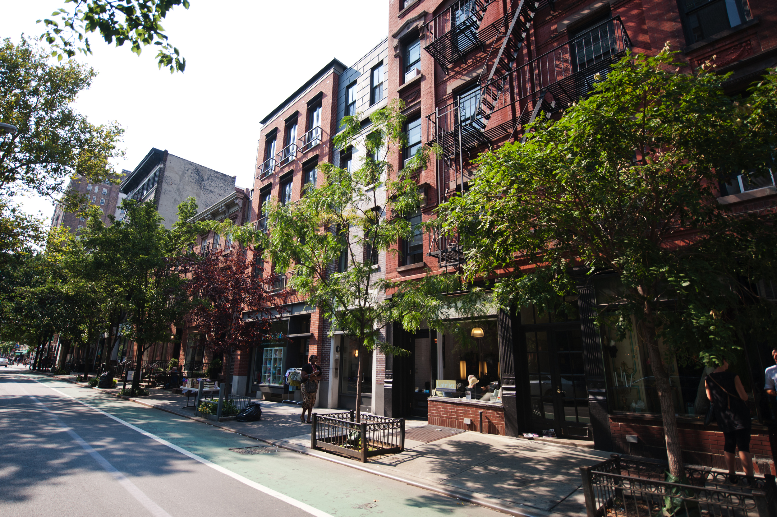
<path id="1" fill-rule="evenodd" d="M 688 44 L 696 43 L 746 19 L 741 0 L 681 0 Z"/>

